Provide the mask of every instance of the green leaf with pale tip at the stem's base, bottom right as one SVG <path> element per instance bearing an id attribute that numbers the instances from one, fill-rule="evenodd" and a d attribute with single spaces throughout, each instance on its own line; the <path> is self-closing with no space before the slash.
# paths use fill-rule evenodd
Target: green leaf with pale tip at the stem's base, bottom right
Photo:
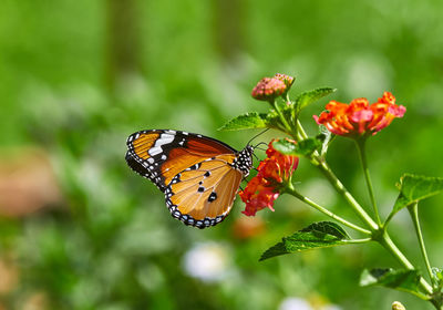
<path id="1" fill-rule="evenodd" d="M 409 269 L 364 269 L 360 277 L 360 286 L 382 286 L 395 290 L 413 293 L 422 299 L 426 296 L 420 291 L 420 273 Z"/>

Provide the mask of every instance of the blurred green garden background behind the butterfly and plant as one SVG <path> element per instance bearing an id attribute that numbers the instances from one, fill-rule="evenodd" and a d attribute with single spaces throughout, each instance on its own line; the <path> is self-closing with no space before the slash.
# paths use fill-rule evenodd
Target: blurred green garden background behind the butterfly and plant
<path id="1" fill-rule="evenodd" d="M 241 148 L 256 131 L 216 128 L 266 111 L 249 94 L 277 72 L 297 76 L 292 97 L 332 86 L 329 99 L 373 102 L 391 91 L 408 112 L 368 146 L 387 215 L 403 172 L 443 176 L 442 11 L 439 0 L 2 0 L 0 309 L 432 309 L 358 287 L 364 267 L 398 267 L 375 245 L 258 262 L 280 237 L 326 219 L 290 197 L 256 218 L 237 202 L 214 228 L 182 225 L 124 154 L 126 136 L 144 128 Z M 326 102 L 303 112 L 312 134 Z M 329 161 L 368 205 L 352 143 L 338 138 Z M 303 161 L 297 182 L 356 218 Z M 441 202 L 421 208 L 439 267 Z M 405 211 L 391 231 L 421 261 Z"/>

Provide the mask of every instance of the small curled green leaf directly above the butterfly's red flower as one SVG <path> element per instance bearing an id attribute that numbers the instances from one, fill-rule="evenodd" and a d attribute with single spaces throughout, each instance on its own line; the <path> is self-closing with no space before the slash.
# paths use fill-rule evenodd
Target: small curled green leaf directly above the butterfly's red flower
<path id="1" fill-rule="evenodd" d="M 302 140 L 297 144 L 287 140 L 275 141 L 272 146 L 285 155 L 309 157 L 313 152 L 321 148 L 323 140 L 324 135 L 320 134 L 315 138 Z"/>

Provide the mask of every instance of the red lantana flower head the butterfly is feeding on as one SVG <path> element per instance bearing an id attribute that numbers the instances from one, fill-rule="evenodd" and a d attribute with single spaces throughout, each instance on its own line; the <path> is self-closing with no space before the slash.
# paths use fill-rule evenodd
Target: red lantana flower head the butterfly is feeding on
<path id="1" fill-rule="evenodd" d="M 267 158 L 258 165 L 257 175 L 249 180 L 245 190 L 239 193 L 241 200 L 246 203 L 241 213 L 247 216 L 255 216 L 264 208 L 274 211 L 274 202 L 280 195 L 280 188 L 298 166 L 298 157 L 278 153 L 272 146 L 274 141 L 266 151 Z"/>

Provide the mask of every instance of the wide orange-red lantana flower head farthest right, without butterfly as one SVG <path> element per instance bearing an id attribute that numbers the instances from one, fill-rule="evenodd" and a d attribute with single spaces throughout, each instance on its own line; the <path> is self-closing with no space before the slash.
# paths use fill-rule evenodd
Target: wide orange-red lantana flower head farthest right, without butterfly
<path id="1" fill-rule="evenodd" d="M 326 108 L 328 112 L 322 112 L 320 116 L 313 115 L 317 124 L 324 125 L 336 135 L 349 137 L 374 135 L 406 112 L 403 105 L 395 104 L 395 97 L 390 92 L 384 92 L 372 104 L 361 97 L 350 104 L 331 101 Z"/>

